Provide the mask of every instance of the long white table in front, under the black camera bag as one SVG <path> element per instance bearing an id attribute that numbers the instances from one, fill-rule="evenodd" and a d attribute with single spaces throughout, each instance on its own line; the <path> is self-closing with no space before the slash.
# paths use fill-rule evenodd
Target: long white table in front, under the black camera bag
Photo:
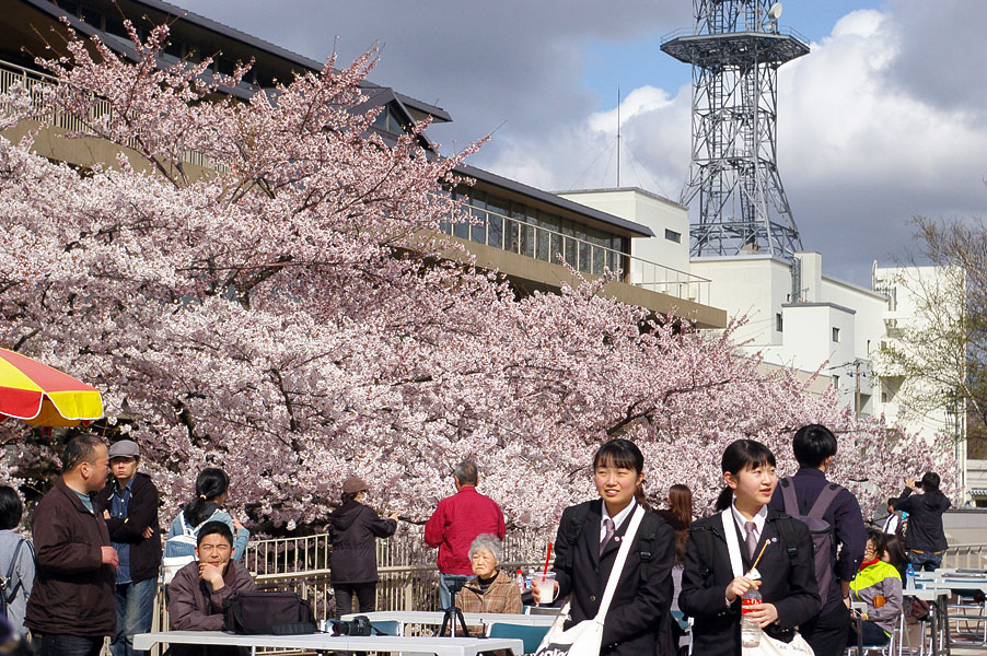
<path id="1" fill-rule="evenodd" d="M 138 633 L 133 636 L 135 649 L 150 649 L 155 643 L 251 647 L 251 654 L 256 654 L 257 647 L 334 652 L 413 652 L 437 656 L 477 656 L 480 652 L 492 649 L 511 649 L 516 656 L 524 653 L 524 641 L 508 637 L 333 636 L 327 633 L 237 635 L 223 631 L 162 631 Z"/>

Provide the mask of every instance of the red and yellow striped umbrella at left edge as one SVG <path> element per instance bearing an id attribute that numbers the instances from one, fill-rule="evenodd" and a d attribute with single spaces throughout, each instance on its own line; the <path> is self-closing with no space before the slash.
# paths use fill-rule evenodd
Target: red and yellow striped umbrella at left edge
<path id="1" fill-rule="evenodd" d="M 7 417 L 36 426 L 74 426 L 103 417 L 103 399 L 95 387 L 0 349 L 0 421 Z"/>

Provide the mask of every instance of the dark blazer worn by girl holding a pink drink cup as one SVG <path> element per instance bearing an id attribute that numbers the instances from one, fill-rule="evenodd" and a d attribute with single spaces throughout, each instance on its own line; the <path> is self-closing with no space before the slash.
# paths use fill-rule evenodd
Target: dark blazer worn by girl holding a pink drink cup
<path id="1" fill-rule="evenodd" d="M 555 539 L 553 571 L 559 584 L 559 597 L 572 595 L 571 619 L 566 623 L 566 629 L 596 617 L 603 590 L 623 543 L 622 538 L 630 524 L 628 516 L 601 555 L 602 508 L 603 500 L 597 499 L 562 512 Z M 584 519 L 579 536 L 570 544 L 572 518 L 579 516 Z M 642 552 L 650 553 L 650 559 L 646 554 L 645 562 L 641 562 Z M 664 519 L 646 512 L 604 619 L 602 656 L 671 656 L 674 653 L 670 621 L 674 562 L 675 532 Z"/>

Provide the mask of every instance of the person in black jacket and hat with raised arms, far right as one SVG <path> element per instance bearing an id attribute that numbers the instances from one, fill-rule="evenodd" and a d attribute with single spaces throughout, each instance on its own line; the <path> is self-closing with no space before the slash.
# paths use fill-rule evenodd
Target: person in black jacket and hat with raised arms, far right
<path id="1" fill-rule="evenodd" d="M 911 495 L 921 490 L 922 494 Z M 942 514 L 950 507 L 950 500 L 939 491 L 939 475 L 929 471 L 921 477 L 921 487 L 908 479 L 898 497 L 896 509 L 908 513 L 908 530 L 905 532 L 905 551 L 916 571 L 934 572 L 942 564 L 942 552 L 949 544 L 942 528 Z"/>

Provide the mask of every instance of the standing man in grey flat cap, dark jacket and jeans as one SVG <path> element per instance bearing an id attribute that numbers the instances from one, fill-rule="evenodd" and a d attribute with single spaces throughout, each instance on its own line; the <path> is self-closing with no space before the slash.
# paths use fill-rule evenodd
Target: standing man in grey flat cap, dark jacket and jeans
<path id="1" fill-rule="evenodd" d="M 109 447 L 113 476 L 96 496 L 109 540 L 120 557 L 116 571 L 116 634 L 109 643 L 113 656 L 146 654 L 133 651 L 133 634 L 151 630 L 154 591 L 161 566 L 161 530 L 158 526 L 158 488 L 137 471 L 140 447 L 120 440 Z"/>

